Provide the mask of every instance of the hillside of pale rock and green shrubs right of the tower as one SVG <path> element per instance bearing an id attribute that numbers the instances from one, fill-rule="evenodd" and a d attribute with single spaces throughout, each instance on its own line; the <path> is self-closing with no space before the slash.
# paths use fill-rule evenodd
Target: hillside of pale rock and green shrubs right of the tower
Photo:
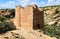
<path id="1" fill-rule="evenodd" d="M 60 5 L 46 6 L 39 9 L 44 11 L 45 34 L 60 39 Z"/>

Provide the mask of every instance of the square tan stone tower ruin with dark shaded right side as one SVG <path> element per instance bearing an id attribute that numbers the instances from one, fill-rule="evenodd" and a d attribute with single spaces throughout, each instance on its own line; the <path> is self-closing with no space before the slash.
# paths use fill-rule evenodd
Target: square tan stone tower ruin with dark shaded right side
<path id="1" fill-rule="evenodd" d="M 14 24 L 17 29 L 43 29 L 43 15 L 43 11 L 40 11 L 35 4 L 25 8 L 16 6 Z"/>

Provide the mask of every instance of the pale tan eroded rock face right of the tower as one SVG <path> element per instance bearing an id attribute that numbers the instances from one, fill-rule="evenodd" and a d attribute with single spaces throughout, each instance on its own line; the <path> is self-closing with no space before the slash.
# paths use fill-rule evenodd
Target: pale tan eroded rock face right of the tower
<path id="1" fill-rule="evenodd" d="M 58 22 L 60 21 L 60 12 L 58 11 L 60 8 L 47 8 L 44 11 L 44 21 L 45 24 L 49 25 L 60 25 Z"/>

